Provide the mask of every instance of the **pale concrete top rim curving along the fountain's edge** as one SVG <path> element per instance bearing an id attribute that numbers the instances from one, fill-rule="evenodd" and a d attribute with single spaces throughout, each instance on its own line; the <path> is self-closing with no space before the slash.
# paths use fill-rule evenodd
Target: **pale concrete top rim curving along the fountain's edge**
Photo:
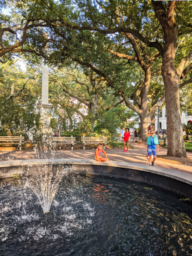
<path id="1" fill-rule="evenodd" d="M 99 163 L 92 159 L 29 159 L 29 160 L 13 160 L 0 162 L 0 178 L 3 178 L 2 169 L 14 166 L 34 166 L 34 165 L 49 165 L 49 164 L 71 164 L 71 165 L 94 165 L 94 166 L 111 166 L 123 169 L 133 169 L 142 172 L 150 172 L 153 174 L 169 177 L 192 186 L 192 175 L 185 172 L 165 169 L 155 166 L 147 166 L 138 163 L 127 163 L 119 161 L 108 161 Z M 10 176 L 12 177 L 12 176 Z"/>

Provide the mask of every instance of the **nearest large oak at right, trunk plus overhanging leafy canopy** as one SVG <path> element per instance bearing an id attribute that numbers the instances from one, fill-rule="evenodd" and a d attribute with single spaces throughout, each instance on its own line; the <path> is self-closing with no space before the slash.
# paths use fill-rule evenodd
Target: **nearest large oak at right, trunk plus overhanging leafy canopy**
<path id="1" fill-rule="evenodd" d="M 180 119 L 179 86 L 192 69 L 191 40 L 192 4 L 169 1 L 113 1 L 94 4 L 79 2 L 80 18 L 76 22 L 60 20 L 55 27 L 66 26 L 77 30 L 97 31 L 105 35 L 130 34 L 148 47 L 158 50 L 162 58 L 162 76 L 165 88 L 168 155 L 186 157 Z M 155 15 L 155 16 L 154 16 Z M 55 29 L 54 27 L 54 29 Z M 187 42 L 182 53 L 176 53 Z M 124 42 L 122 42 L 124 43 Z M 186 47 L 187 46 L 187 47 Z M 190 82 L 189 78 L 185 83 Z"/>

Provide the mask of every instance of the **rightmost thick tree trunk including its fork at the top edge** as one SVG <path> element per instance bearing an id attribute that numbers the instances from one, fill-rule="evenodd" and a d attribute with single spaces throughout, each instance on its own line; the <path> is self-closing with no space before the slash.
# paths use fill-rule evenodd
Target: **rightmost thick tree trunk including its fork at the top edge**
<path id="1" fill-rule="evenodd" d="M 162 76 L 165 88 L 167 112 L 167 155 L 186 157 L 183 130 L 180 118 L 179 81 L 180 74 L 175 69 L 175 52 L 177 47 L 177 24 L 175 21 L 175 1 L 167 4 L 152 0 L 155 15 L 160 21 L 164 33 Z"/>

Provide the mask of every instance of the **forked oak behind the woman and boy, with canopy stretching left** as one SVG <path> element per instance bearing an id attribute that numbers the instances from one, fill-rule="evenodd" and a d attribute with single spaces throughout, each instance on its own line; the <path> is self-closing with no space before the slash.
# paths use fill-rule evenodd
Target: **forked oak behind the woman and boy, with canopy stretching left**
<path id="1" fill-rule="evenodd" d="M 50 24 L 50 26 L 54 26 L 54 24 Z M 93 34 L 92 32 L 83 31 L 77 33 L 70 30 L 66 31 L 65 27 L 64 29 L 57 27 L 54 28 L 54 31 L 49 32 L 50 38 L 47 41 L 49 41 L 50 50 L 48 53 L 51 52 L 51 54 L 47 55 L 46 58 L 54 65 L 67 63 L 68 58 L 70 58 L 103 77 L 108 87 L 111 87 L 113 90 L 115 89 L 122 97 L 122 100 L 125 100 L 128 108 L 133 109 L 139 114 L 141 120 L 140 140 L 146 140 L 147 127 L 150 124 L 151 117 L 157 110 L 156 101 L 159 96 L 162 99 L 162 104 L 164 101 L 162 83 L 159 84 L 155 91 L 150 88 L 151 76 L 157 76 L 158 73 L 158 65 L 154 65 L 157 70 L 153 70 L 154 67 L 152 68 L 152 65 L 154 61 L 158 62 L 157 58 L 160 56 L 160 53 L 157 51 L 152 52 L 128 33 L 121 35 L 121 38 L 116 37 L 113 40 L 116 41 L 116 47 L 113 47 L 113 45 L 110 45 L 111 41 L 108 40 L 109 38 L 103 35 L 100 36 L 98 33 Z M 121 41 L 124 39 L 125 43 L 122 46 Z M 46 41 L 45 38 L 44 41 Z M 32 43 L 32 40 L 29 40 L 30 43 Z M 36 40 L 35 47 L 38 44 Z M 126 54 L 114 51 L 116 50 L 115 48 Z M 136 64 L 134 65 L 133 62 L 136 62 Z M 131 70 L 129 70 L 130 66 Z M 136 71 L 139 73 L 137 79 Z M 156 98 L 151 100 L 154 96 Z"/>

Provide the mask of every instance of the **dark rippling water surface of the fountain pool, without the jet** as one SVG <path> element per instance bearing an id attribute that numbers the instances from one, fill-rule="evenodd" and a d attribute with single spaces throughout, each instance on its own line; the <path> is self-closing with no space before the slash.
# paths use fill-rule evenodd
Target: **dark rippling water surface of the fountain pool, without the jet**
<path id="1" fill-rule="evenodd" d="M 0 180 L 0 256 L 192 255 L 192 203 L 144 183 L 67 175 L 49 214 L 24 177 Z"/>

